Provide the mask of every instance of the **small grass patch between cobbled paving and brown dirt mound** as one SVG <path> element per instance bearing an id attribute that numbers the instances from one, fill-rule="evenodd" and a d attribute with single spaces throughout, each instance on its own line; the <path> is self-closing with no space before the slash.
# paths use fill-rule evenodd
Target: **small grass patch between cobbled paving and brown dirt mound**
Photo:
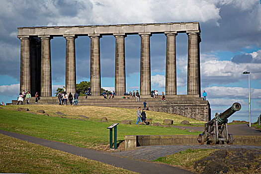
<path id="1" fill-rule="evenodd" d="M 181 167 L 188 167 L 194 165 L 198 160 L 201 160 L 215 150 L 212 149 L 187 149 L 185 151 L 180 151 L 179 153 L 168 155 L 166 157 L 160 157 L 155 162 L 166 163 L 170 165 L 176 165 Z"/>

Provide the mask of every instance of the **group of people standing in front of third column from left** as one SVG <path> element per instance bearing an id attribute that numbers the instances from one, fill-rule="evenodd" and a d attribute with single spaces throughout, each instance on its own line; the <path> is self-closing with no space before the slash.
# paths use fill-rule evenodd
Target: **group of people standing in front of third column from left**
<path id="1" fill-rule="evenodd" d="M 66 93 L 66 88 L 63 87 L 63 91 L 59 91 L 58 93 L 58 100 L 59 100 L 59 105 L 68 105 L 67 100 L 69 99 L 69 102 L 71 105 L 76 105 L 78 104 L 78 98 L 79 98 L 79 94 L 77 93 L 77 91 L 75 92 L 74 96 L 73 94 L 70 92 L 69 95 Z"/>

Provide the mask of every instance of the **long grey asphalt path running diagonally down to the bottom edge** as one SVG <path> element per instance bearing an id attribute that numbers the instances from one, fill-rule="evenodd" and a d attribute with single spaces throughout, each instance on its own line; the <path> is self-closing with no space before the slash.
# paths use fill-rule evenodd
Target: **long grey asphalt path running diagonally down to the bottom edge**
<path id="1" fill-rule="evenodd" d="M 137 161 L 128 158 L 122 158 L 108 153 L 98 152 L 86 148 L 79 148 L 65 143 L 59 143 L 40 138 L 35 138 L 27 135 L 21 135 L 17 133 L 7 132 L 0 130 L 1 134 L 8 135 L 10 137 L 18 138 L 34 144 L 39 144 L 52 149 L 68 152 L 74 155 L 85 157 L 91 160 L 106 163 L 115 167 L 127 169 L 129 171 L 138 172 L 141 174 L 192 174 L 189 171 L 175 168 L 169 165 L 155 164 L 144 161 Z"/>

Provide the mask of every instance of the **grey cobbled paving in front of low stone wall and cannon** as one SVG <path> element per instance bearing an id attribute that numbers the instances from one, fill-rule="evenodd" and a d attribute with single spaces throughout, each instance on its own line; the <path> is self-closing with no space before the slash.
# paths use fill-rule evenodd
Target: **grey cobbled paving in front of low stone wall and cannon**
<path id="1" fill-rule="evenodd" d="M 185 146 L 141 146 L 135 150 L 112 153 L 116 156 L 127 157 L 136 160 L 156 160 L 159 157 L 165 157 L 184 151 L 186 149 L 257 149 L 261 152 L 261 146 L 239 146 L 239 145 L 185 145 Z"/>

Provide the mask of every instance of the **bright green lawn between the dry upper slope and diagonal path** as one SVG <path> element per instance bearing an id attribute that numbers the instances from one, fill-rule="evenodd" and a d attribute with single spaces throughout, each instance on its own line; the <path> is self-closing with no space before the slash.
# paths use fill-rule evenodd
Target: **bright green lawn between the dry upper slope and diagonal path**
<path id="1" fill-rule="evenodd" d="M 61 110 L 60 110 L 61 111 Z M 0 109 L 0 129 L 30 135 L 47 140 L 64 142 L 78 147 L 106 150 L 109 144 L 109 130 L 114 121 L 107 123 L 95 120 L 77 120 L 48 117 L 27 112 Z M 176 128 L 119 124 L 117 140 L 124 135 L 197 135 Z"/>

